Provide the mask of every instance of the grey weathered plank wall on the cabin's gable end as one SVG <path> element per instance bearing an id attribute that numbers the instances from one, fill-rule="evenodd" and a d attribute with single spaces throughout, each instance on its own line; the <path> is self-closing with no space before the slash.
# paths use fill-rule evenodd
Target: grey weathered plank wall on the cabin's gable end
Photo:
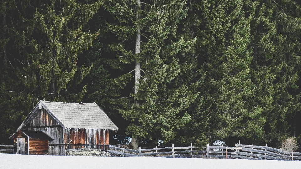
<path id="1" fill-rule="evenodd" d="M 49 155 L 64 155 L 63 127 L 42 107 L 29 122 L 29 130 L 43 131 L 54 140 L 49 140 Z"/>

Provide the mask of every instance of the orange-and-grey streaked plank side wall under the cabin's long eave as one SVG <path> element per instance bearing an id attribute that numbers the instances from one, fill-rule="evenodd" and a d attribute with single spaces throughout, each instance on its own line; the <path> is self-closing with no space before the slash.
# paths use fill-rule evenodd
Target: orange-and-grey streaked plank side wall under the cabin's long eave
<path id="1" fill-rule="evenodd" d="M 109 131 L 107 129 L 64 129 L 64 144 L 68 149 L 77 148 L 104 148 L 100 145 L 109 144 Z"/>

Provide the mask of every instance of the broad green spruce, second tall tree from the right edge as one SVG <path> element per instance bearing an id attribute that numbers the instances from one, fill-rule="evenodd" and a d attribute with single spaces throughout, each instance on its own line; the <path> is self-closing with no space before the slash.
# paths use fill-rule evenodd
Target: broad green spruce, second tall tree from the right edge
<path id="1" fill-rule="evenodd" d="M 191 107 L 191 123 L 179 141 L 262 140 L 265 118 L 253 100 L 256 85 L 251 81 L 249 5 L 242 0 L 190 1 L 186 25 L 198 37 L 195 54 L 204 76 L 197 89 L 201 97 Z"/>

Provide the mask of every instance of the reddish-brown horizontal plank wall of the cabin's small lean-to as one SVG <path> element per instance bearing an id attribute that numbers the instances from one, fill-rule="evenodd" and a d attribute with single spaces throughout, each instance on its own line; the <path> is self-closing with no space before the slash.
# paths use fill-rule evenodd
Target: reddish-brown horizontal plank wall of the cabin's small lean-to
<path id="1" fill-rule="evenodd" d="M 29 155 L 48 154 L 48 140 L 29 138 Z"/>

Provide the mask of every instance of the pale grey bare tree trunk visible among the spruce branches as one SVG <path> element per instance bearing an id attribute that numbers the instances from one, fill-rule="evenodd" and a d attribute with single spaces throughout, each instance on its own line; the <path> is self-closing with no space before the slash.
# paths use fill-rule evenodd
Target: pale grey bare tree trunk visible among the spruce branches
<path id="1" fill-rule="evenodd" d="M 137 0 L 138 6 L 140 7 L 140 0 Z M 138 20 L 138 13 L 136 14 L 136 20 Z M 140 53 L 140 41 L 141 41 L 141 35 L 140 35 L 140 28 L 137 28 L 137 37 L 136 37 L 136 49 L 135 49 L 135 54 Z M 136 60 L 135 64 L 135 87 L 134 87 L 134 93 L 136 94 L 138 92 L 138 85 L 139 85 L 139 80 L 140 80 L 140 62 Z M 134 98 L 135 104 L 139 106 L 139 103 L 136 101 L 136 98 Z M 133 149 L 137 150 L 138 149 L 138 142 L 137 142 L 137 137 L 132 136 L 132 141 L 131 144 L 133 146 Z"/>

